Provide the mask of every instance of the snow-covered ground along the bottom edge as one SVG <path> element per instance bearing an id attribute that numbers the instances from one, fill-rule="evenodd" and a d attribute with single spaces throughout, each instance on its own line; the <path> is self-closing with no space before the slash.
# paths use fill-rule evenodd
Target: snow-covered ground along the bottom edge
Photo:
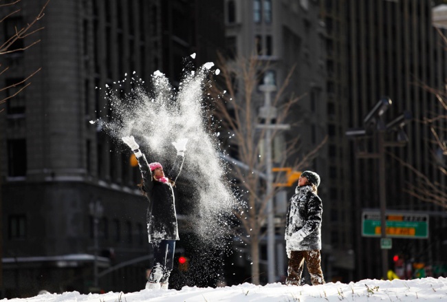
<path id="1" fill-rule="evenodd" d="M 3 299 L 5 301 L 6 299 Z M 108 292 L 106 294 L 39 294 L 14 302 L 133 302 L 133 301 L 447 301 L 447 278 L 414 280 L 362 280 L 356 283 L 327 283 L 318 286 L 286 286 L 273 283 L 265 286 L 243 283 L 225 288 L 189 288 L 182 290 L 141 290 L 140 292 Z"/>

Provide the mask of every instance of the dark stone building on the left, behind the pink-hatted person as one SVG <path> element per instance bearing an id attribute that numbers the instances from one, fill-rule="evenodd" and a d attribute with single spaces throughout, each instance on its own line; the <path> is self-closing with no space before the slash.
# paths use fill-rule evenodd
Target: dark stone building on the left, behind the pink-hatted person
<path id="1" fill-rule="evenodd" d="M 3 22 L 3 41 L 45 2 L 21 1 L 21 11 Z M 182 56 L 197 52 L 199 63 L 213 60 L 223 25 L 201 19 L 201 2 L 50 1 L 39 21 L 43 30 L 23 45 L 41 42 L 1 56 L 10 67 L 0 76 L 2 87 L 42 68 L 0 114 L 1 288 L 7 297 L 144 287 L 151 254 L 146 200 L 136 190 L 140 172 L 127 149 L 89 121 L 109 120 L 109 100 L 99 88 L 125 74 L 149 79 L 160 69 L 174 78 L 178 71 L 168 63 L 181 63 Z M 221 12 L 219 3 L 208 7 Z M 177 19 L 177 12 L 188 19 Z M 208 22 L 217 25 L 212 39 L 203 30 Z M 166 24 L 176 29 L 166 31 Z M 17 89 L 2 91 L 2 98 Z"/>

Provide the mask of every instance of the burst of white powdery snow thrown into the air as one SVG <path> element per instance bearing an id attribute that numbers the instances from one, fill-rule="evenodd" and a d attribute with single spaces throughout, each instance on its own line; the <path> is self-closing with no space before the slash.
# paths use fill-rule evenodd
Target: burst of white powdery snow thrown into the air
<path id="1" fill-rule="evenodd" d="M 206 63 L 196 71 L 185 72 L 178 89 L 158 71 L 151 76 L 149 92 L 135 75 L 106 87 L 111 114 L 108 122 L 96 123 L 117 144 L 121 144 L 122 136 L 134 136 L 148 161 L 160 162 L 164 167 L 175 159 L 176 150 L 171 143 L 188 138 L 179 177 L 188 183 L 188 195 L 193 196 L 189 202 L 195 204 L 195 217 L 188 220 L 201 241 L 226 249 L 218 245 L 225 242 L 222 237 L 228 238 L 230 234 L 227 219 L 232 215 L 235 197 L 225 179 L 226 166 L 219 159 L 215 136 L 208 133 L 205 125 L 210 110 L 203 91 L 209 85 L 208 74 L 213 65 Z M 131 93 L 120 95 L 120 89 L 129 85 L 128 81 Z M 176 204 L 182 202 L 185 201 L 176 200 Z"/>

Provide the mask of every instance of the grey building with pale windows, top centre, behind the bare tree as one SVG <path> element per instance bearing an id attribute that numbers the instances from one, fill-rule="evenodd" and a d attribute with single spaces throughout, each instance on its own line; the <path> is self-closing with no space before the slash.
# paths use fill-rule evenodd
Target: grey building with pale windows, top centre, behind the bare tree
<path id="1" fill-rule="evenodd" d="M 226 54 L 230 61 L 236 57 L 255 56 L 260 62 L 268 65 L 266 73 L 272 76 L 277 87 L 283 85 L 287 74 L 292 67 L 295 67 L 290 85 L 283 96 L 294 94 L 303 98 L 290 111 L 290 118 L 287 120 L 295 125 L 289 131 L 282 131 L 279 137 L 283 142 L 290 142 L 292 138 L 301 136 L 301 152 L 298 156 L 314 150 L 327 134 L 325 28 L 320 23 L 319 6 L 316 1 L 226 0 L 225 9 Z M 263 104 L 263 92 L 257 90 L 254 100 Z M 301 124 L 296 126 L 298 120 L 301 120 Z M 323 150 L 325 149 L 327 148 L 323 147 Z M 326 202 L 329 198 L 328 158 L 325 151 L 318 154 L 310 166 L 301 168 L 314 170 L 320 174 L 323 181 L 318 194 L 325 201 L 326 207 L 330 204 Z M 281 160 L 278 162 L 274 160 L 276 166 L 279 162 Z M 287 162 L 293 162 L 293 159 L 290 158 Z M 269 261 L 274 261 L 276 281 L 287 276 L 287 257 L 283 239 L 284 217 L 294 186 L 281 191 L 275 197 L 275 208 L 281 209 L 275 213 L 277 221 L 281 222 L 276 224 L 279 230 L 275 239 L 276 255 L 275 259 L 268 259 L 268 242 L 267 240 L 261 242 L 261 283 L 268 281 Z M 323 242 L 328 242 L 331 235 L 329 214 L 326 214 L 329 211 L 326 211 L 325 208 Z M 329 263 L 332 251 L 327 250 L 329 246 L 323 248 L 323 263 Z M 323 270 L 327 273 L 325 264 Z"/>

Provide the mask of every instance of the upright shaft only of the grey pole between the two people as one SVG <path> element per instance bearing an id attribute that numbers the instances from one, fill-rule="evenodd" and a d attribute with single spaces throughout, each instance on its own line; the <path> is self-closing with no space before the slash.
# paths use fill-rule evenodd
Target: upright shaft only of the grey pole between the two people
<path id="1" fill-rule="evenodd" d="M 265 91 L 265 107 L 271 108 L 270 91 Z M 267 174 L 267 259 L 268 283 L 275 281 L 275 255 L 274 255 L 274 213 L 273 213 L 273 175 L 272 175 L 272 122 L 270 114 L 265 118 L 265 173 Z"/>

